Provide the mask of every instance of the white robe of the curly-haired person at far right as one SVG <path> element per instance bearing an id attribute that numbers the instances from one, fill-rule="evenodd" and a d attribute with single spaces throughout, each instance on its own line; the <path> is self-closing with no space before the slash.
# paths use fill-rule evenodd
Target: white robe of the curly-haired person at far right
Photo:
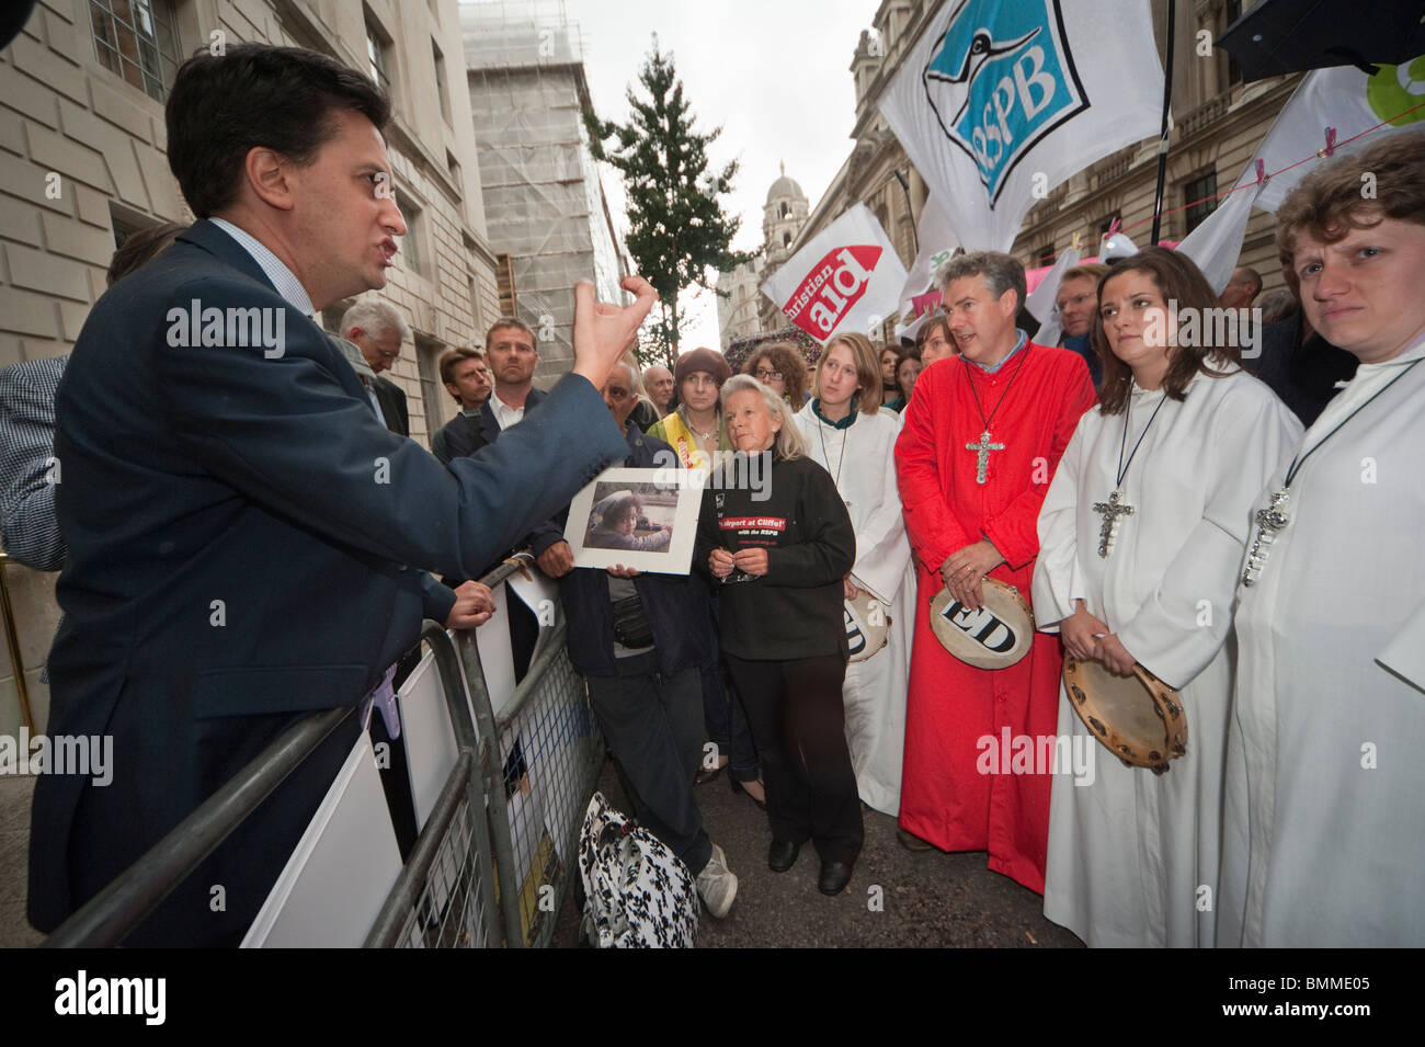
<path id="1" fill-rule="evenodd" d="M 1301 447 L 1422 356 L 1362 363 Z M 1238 593 L 1220 944 L 1425 946 L 1422 462 L 1425 363 L 1305 460 Z"/>

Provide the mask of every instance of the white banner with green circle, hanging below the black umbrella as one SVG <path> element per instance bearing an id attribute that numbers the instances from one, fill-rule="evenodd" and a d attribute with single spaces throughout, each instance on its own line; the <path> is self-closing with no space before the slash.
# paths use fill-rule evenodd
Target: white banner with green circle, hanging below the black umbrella
<path id="1" fill-rule="evenodd" d="M 1221 293 L 1237 268 L 1251 208 L 1255 205 L 1275 212 L 1287 194 L 1315 171 L 1325 157 L 1314 157 L 1305 164 L 1298 161 L 1314 152 L 1324 152 L 1328 144 L 1340 155 L 1364 148 L 1395 131 L 1425 130 L 1425 108 L 1406 113 L 1425 103 L 1425 80 L 1411 78 L 1411 67 L 1421 64 L 1425 63 L 1416 58 L 1404 66 L 1382 66 L 1369 77 L 1354 66 L 1337 66 L 1315 70 L 1301 81 L 1234 182 L 1237 191 L 1177 248 L 1197 262 L 1214 291 Z M 1381 121 L 1394 118 L 1398 118 L 1395 124 L 1377 127 Z M 1377 130 L 1345 142 L 1369 128 Z M 1338 141 L 1344 144 L 1337 145 Z M 1257 187 L 1258 161 L 1261 174 L 1270 175 L 1265 185 L 1240 188 Z M 1274 175 L 1273 171 L 1281 174 Z M 1362 192 L 1365 191 L 1367 187 L 1362 185 Z"/>

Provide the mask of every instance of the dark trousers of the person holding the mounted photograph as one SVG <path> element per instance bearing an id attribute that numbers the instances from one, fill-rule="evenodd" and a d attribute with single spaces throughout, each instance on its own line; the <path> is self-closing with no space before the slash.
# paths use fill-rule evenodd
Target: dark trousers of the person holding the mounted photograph
<path id="1" fill-rule="evenodd" d="M 703 755 L 698 671 L 660 677 L 651 652 L 618 658 L 617 671 L 586 678 L 594 717 L 623 768 L 638 821 L 697 876 L 712 856 L 693 798 Z"/>

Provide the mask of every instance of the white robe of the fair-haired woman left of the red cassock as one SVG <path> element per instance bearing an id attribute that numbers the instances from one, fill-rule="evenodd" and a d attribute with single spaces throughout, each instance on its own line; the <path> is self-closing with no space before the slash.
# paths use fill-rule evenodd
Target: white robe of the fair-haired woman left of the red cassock
<path id="1" fill-rule="evenodd" d="M 889 620 L 886 645 L 865 661 L 846 664 L 842 687 L 846 746 L 861 799 L 895 816 L 901 811 L 905 695 L 915 625 L 915 566 L 895 479 L 901 416 L 884 409 L 875 415 L 858 412 L 848 429 L 835 429 L 817 417 L 812 403 L 817 400 L 802 407 L 795 420 L 807 437 L 807 454 L 834 479 L 839 473 L 836 490 L 846 501 L 856 533 L 851 581 L 881 601 Z"/>

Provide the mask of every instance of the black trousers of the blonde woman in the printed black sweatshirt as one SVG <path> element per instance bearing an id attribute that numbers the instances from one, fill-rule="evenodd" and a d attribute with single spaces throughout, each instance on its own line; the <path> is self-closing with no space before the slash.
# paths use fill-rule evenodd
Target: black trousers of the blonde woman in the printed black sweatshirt
<path id="1" fill-rule="evenodd" d="M 809 839 L 824 862 L 855 862 L 865 830 L 841 704 L 845 660 L 722 658 L 762 758 L 772 839 Z"/>

